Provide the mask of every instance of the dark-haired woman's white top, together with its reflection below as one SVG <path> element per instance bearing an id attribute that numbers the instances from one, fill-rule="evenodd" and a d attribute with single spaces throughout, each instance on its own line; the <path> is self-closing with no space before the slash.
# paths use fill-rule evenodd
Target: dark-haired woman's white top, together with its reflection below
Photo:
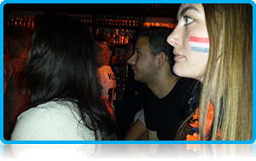
<path id="1" fill-rule="evenodd" d="M 50 101 L 20 114 L 11 141 L 95 141 L 95 135 L 79 124 L 77 109 L 68 101 Z M 83 128 L 81 128 L 83 127 Z M 16 159 L 84 159 L 92 144 L 14 144 Z"/>

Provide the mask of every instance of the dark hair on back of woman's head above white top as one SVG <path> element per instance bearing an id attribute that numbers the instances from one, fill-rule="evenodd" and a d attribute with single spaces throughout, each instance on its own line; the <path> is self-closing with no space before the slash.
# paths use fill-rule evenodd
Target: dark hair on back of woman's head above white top
<path id="1" fill-rule="evenodd" d="M 69 17 L 45 17 L 32 36 L 26 89 L 32 102 L 77 97 L 79 87 L 94 95 L 95 42 L 87 26 Z M 40 92 L 38 92 L 40 91 Z"/>

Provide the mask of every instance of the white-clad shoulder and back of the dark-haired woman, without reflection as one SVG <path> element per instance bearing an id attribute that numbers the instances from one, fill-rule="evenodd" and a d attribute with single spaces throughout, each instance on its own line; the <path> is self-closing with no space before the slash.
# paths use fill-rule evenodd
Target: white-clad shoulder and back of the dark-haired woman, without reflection
<path id="1" fill-rule="evenodd" d="M 49 101 L 32 107 L 20 114 L 12 139 L 16 135 L 16 141 L 31 140 L 32 138 L 44 141 L 44 135 L 47 135 L 45 138 L 47 141 L 83 140 L 79 136 L 80 130 L 83 130 L 83 135 L 90 135 L 90 131 L 79 123 L 81 118 L 78 113 L 77 108 L 69 101 Z M 24 135 L 20 135 L 20 133 L 24 133 Z"/>

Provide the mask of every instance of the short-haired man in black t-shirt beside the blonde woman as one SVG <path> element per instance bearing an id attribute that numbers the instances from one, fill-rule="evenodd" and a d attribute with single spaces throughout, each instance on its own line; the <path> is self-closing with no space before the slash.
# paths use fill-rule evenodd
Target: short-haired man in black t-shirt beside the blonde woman
<path id="1" fill-rule="evenodd" d="M 154 27 L 137 33 L 134 55 L 128 60 L 134 78 L 145 83 L 153 94 L 144 108 L 148 141 L 175 140 L 184 120 L 194 80 L 172 73 L 172 46 L 166 42 L 172 29 Z M 156 153 L 158 145 L 148 145 L 148 154 Z"/>

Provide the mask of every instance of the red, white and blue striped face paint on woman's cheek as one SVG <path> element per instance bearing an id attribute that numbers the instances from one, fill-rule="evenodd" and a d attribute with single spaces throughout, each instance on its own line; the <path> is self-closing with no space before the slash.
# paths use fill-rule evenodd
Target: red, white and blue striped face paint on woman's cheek
<path id="1" fill-rule="evenodd" d="M 190 36 L 189 43 L 192 51 L 209 53 L 209 38 Z"/>

